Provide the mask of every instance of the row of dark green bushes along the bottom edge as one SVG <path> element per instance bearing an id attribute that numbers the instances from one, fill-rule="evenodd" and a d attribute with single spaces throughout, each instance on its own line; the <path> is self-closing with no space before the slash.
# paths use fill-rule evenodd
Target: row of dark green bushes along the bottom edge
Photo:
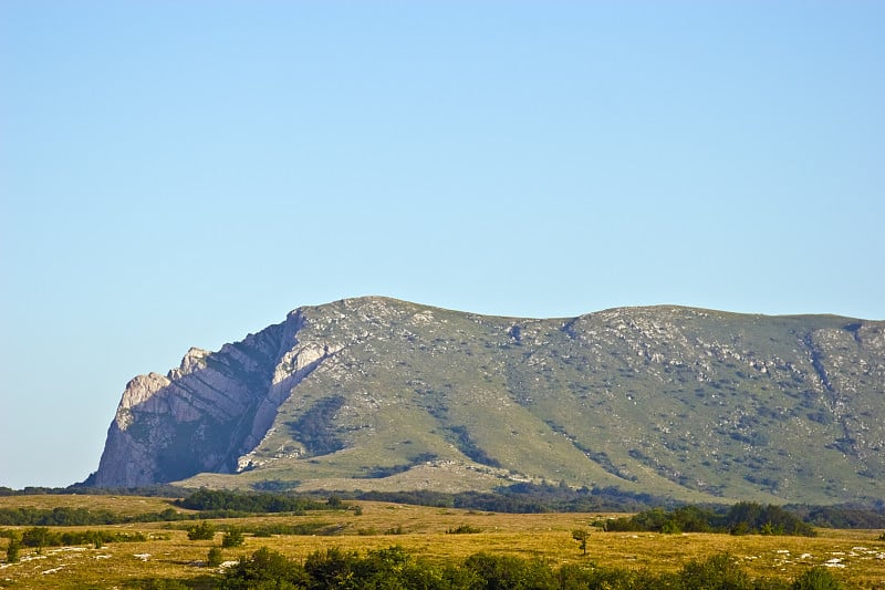
<path id="1" fill-rule="evenodd" d="M 788 590 L 839 589 L 841 582 L 825 568 L 811 568 L 792 582 L 752 578 L 728 553 L 690 560 L 676 572 L 598 567 L 593 563 L 552 566 L 541 559 L 479 552 L 448 563 L 431 563 L 389 547 L 367 551 L 325 549 L 303 563 L 262 547 L 242 557 L 219 580 L 219 588 L 391 588 L 460 589 L 656 589 Z"/>

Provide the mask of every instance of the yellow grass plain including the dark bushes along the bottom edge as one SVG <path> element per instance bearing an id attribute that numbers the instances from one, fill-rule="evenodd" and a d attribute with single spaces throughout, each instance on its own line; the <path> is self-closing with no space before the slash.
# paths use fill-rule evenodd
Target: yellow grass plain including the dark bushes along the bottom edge
<path id="1" fill-rule="evenodd" d="M 123 496 L 105 496 L 101 501 L 10 497 L 2 498 L 0 507 L 22 507 L 17 503 L 49 511 L 56 504 L 95 506 L 119 515 L 137 515 L 139 509 L 163 511 L 158 509 L 163 503 L 156 498 Z M 284 566 L 301 580 L 264 584 L 274 588 L 285 588 L 285 583 L 322 587 L 326 582 L 317 581 L 321 578 L 314 576 L 319 573 L 326 581 L 341 580 L 339 587 L 414 587 L 403 581 L 398 571 L 410 572 L 412 580 L 424 580 L 420 587 L 427 589 L 520 588 L 524 587 L 520 586 L 524 580 L 520 572 L 531 572 L 532 588 L 548 588 L 552 579 L 559 584 L 555 588 L 688 590 L 718 588 L 715 583 L 721 578 L 704 578 L 717 568 L 730 572 L 728 583 L 737 590 L 785 589 L 796 583 L 804 586 L 795 588 L 833 588 L 826 586 L 832 581 L 848 590 L 877 588 L 885 581 L 881 529 L 816 529 L 816 537 L 804 537 L 796 531 L 789 535 L 793 529 L 784 526 L 783 535 L 732 535 L 728 528 L 718 532 L 701 527 L 707 511 L 717 518 L 727 514 L 701 507 L 636 515 L 641 522 L 673 521 L 683 529 L 683 534 L 673 534 L 675 530 L 666 528 L 670 532 L 666 534 L 663 526 L 612 530 L 615 527 L 607 522 L 617 522 L 624 515 L 611 513 L 501 514 L 350 498 L 333 500 L 332 506 L 321 498 L 317 506 L 303 514 L 254 513 L 223 519 L 4 527 L 0 529 L 0 587 L 261 588 L 264 582 L 253 580 L 250 586 L 242 578 L 261 569 L 261 563 Z M 778 520 L 772 518 L 777 511 L 756 505 L 743 508 L 750 508 L 745 510 L 748 515 L 766 516 L 762 524 L 771 520 L 778 530 Z M 205 516 L 189 508 L 176 509 Z M 204 529 L 211 536 L 190 538 L 191 530 Z M 705 531 L 688 531 L 694 529 Z M 256 561 L 256 552 L 262 548 L 264 561 Z M 389 576 L 388 566 L 396 570 Z M 699 586 L 690 580 L 707 581 Z"/>

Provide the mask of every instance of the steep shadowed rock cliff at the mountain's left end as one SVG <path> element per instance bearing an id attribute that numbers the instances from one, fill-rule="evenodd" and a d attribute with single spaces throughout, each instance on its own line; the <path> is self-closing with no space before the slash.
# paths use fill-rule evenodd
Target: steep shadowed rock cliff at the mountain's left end
<path id="1" fill-rule="evenodd" d="M 252 421 L 267 400 L 290 321 L 250 334 L 219 352 L 190 349 L 163 376 L 133 379 L 123 392 L 96 486 L 133 487 L 198 472 L 230 472 L 253 442 Z"/>

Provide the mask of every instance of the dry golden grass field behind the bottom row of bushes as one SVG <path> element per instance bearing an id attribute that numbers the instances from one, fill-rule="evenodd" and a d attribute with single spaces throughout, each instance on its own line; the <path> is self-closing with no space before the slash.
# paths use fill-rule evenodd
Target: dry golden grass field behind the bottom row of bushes
<path id="1" fill-rule="evenodd" d="M 878 530 L 821 529 L 815 538 L 602 532 L 592 526 L 597 518 L 606 516 L 598 514 L 509 515 L 383 503 L 345 504 L 351 509 L 322 510 L 306 516 L 215 520 L 219 532 L 212 541 L 188 540 L 185 530 L 191 525 L 188 521 L 79 527 L 139 531 L 149 540 L 107 544 L 97 549 L 92 546 L 56 547 L 38 552 L 24 548 L 19 563 L 6 562 L 8 539 L 3 538 L 0 539 L 0 587 L 111 589 L 138 588 L 150 579 L 192 580 L 217 571 L 207 568 L 205 560 L 210 547 L 220 546 L 227 527 L 248 529 L 269 524 L 313 522 L 334 535 L 262 538 L 247 535 L 242 547 L 223 549 L 225 559 L 236 560 L 262 546 L 299 560 L 330 547 L 362 552 L 400 546 L 435 561 L 458 560 L 488 551 L 540 558 L 552 565 L 593 562 L 658 571 L 677 570 L 690 559 L 727 551 L 739 559 L 752 576 L 791 580 L 812 566 L 830 562 L 833 573 L 847 588 L 885 588 L 885 541 L 877 540 Z M 159 498 L 114 496 L 0 498 L 0 508 L 23 506 L 86 507 L 139 514 L 162 511 L 169 504 Z M 479 529 L 479 532 L 447 532 L 462 525 Z M 581 555 L 579 544 L 572 539 L 574 529 L 591 531 L 586 557 Z"/>

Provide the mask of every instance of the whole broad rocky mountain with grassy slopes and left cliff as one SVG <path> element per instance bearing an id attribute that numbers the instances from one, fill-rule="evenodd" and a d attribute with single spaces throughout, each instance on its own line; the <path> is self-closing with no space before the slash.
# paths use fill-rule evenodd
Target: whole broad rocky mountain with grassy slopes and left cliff
<path id="1" fill-rule="evenodd" d="M 544 320 L 378 297 L 304 307 L 131 381 L 87 484 L 879 499 L 884 329 L 673 306 Z"/>

